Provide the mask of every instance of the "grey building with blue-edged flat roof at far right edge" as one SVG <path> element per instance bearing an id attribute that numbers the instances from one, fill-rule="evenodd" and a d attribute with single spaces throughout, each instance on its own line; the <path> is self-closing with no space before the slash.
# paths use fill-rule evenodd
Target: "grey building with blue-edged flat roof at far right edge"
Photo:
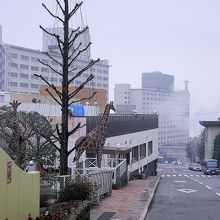
<path id="1" fill-rule="evenodd" d="M 220 133 L 220 121 L 200 121 L 205 127 L 205 158 L 213 158 L 214 140 Z"/>

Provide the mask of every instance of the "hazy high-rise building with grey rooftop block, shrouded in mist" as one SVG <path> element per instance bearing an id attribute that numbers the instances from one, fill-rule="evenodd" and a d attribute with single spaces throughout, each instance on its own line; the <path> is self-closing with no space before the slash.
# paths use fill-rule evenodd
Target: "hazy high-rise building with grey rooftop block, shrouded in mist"
<path id="1" fill-rule="evenodd" d="M 118 114 L 158 114 L 159 147 L 185 143 L 189 137 L 189 90 L 174 90 L 174 76 L 161 72 L 143 73 L 142 88 L 116 84 L 114 100 Z"/>

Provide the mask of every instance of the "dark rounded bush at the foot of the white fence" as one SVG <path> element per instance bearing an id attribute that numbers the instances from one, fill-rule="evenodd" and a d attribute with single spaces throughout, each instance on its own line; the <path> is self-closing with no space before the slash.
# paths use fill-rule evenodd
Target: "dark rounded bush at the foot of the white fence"
<path id="1" fill-rule="evenodd" d="M 60 191 L 59 202 L 72 200 L 90 200 L 93 193 L 93 185 L 82 177 L 77 177 Z"/>

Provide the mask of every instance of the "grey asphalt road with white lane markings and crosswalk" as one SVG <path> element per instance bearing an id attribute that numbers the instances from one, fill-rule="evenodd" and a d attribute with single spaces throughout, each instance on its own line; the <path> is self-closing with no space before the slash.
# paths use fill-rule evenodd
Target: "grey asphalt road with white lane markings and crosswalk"
<path id="1" fill-rule="evenodd" d="M 145 220 L 220 220 L 220 175 L 158 166 L 161 180 Z"/>

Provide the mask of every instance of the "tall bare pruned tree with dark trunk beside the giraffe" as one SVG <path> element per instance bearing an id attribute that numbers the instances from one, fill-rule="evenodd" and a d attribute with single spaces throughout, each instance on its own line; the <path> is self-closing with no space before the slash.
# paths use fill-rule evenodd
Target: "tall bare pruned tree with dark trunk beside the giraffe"
<path id="1" fill-rule="evenodd" d="M 47 33 L 48 35 L 52 36 L 56 42 L 57 46 L 59 48 L 59 54 L 61 56 L 61 61 L 57 59 L 57 56 L 53 56 L 50 52 L 44 52 L 46 56 L 48 56 L 53 62 L 57 63 L 62 67 L 62 72 L 57 71 L 54 69 L 50 64 L 43 62 L 42 60 L 39 60 L 39 62 L 50 68 L 53 72 L 55 72 L 57 75 L 62 77 L 62 91 L 59 91 L 56 86 L 51 84 L 45 77 L 42 75 L 37 75 L 42 81 L 46 83 L 48 88 L 46 91 L 50 94 L 50 96 L 57 102 L 58 105 L 61 106 L 62 111 L 62 122 L 61 126 L 57 124 L 56 126 L 56 138 L 60 143 L 60 146 L 53 145 L 58 152 L 60 153 L 60 174 L 65 175 L 68 173 L 68 156 L 73 152 L 73 150 L 80 146 L 85 139 L 82 139 L 81 143 L 79 143 L 74 148 L 68 150 L 68 139 L 69 137 L 74 134 L 78 129 L 81 128 L 81 124 L 78 123 L 73 130 L 68 130 L 68 107 L 72 105 L 73 103 L 78 103 L 83 100 L 89 100 L 91 99 L 96 92 L 93 92 L 91 96 L 89 97 L 81 97 L 80 99 L 73 100 L 74 97 L 77 97 L 77 94 L 80 90 L 84 88 L 84 86 L 91 81 L 94 78 L 93 74 L 90 74 L 88 78 L 81 83 L 81 85 L 76 88 L 73 92 L 69 92 L 69 85 L 74 80 L 76 80 L 78 77 L 80 77 L 83 72 L 91 68 L 95 63 L 99 61 L 97 60 L 90 60 L 88 61 L 87 65 L 84 66 L 81 70 L 77 70 L 74 63 L 77 62 L 77 59 L 80 57 L 82 53 L 88 50 L 88 48 L 91 45 L 91 42 L 89 42 L 85 47 L 83 47 L 82 42 L 78 45 L 75 45 L 77 42 L 77 39 L 79 39 L 79 36 L 85 33 L 88 29 L 88 27 L 80 28 L 77 27 L 70 31 L 69 24 L 71 18 L 76 15 L 77 11 L 82 6 L 83 2 L 76 3 L 75 6 L 70 9 L 69 7 L 69 0 L 56 0 L 57 6 L 59 10 L 61 11 L 62 16 L 58 16 L 54 13 L 52 13 L 45 4 L 42 4 L 42 6 L 46 9 L 46 11 L 55 19 L 57 19 L 63 28 L 63 36 L 58 35 L 55 32 L 50 32 L 47 29 L 40 26 L 40 28 Z M 76 74 L 74 76 L 70 76 L 69 73 L 72 71 L 76 71 Z M 56 94 L 56 95 L 54 95 Z"/>

